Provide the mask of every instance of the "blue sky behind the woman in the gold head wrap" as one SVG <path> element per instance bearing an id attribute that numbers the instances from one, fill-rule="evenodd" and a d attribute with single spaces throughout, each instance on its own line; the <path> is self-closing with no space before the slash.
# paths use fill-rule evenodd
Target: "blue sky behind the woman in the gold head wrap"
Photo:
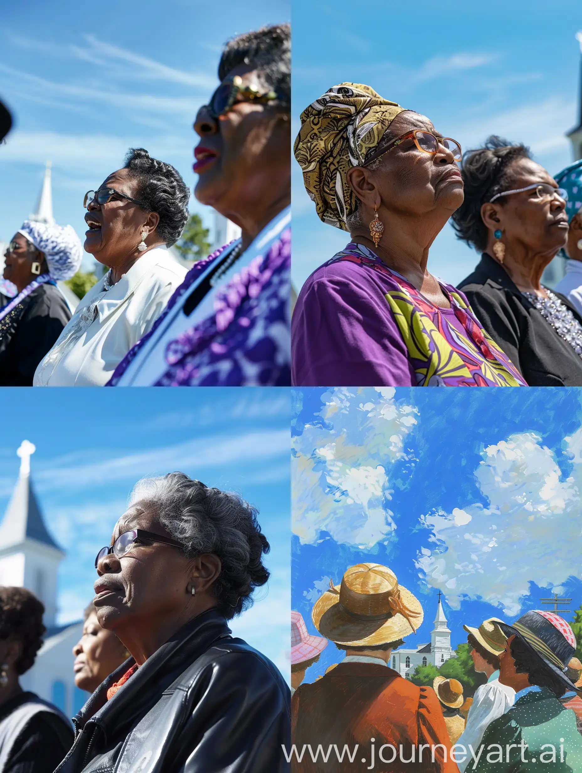
<path id="1" fill-rule="evenodd" d="M 490 134 L 530 145 L 555 174 L 571 162 L 564 133 L 579 115 L 582 29 L 577 0 L 347 0 L 293 3 L 294 136 L 299 114 L 329 87 L 367 83 L 403 107 L 426 114 L 468 149 Z M 293 275 L 311 271 L 345 246 L 347 234 L 315 215 L 293 162 Z M 478 258 L 444 226 L 429 270 L 458 282 Z"/>

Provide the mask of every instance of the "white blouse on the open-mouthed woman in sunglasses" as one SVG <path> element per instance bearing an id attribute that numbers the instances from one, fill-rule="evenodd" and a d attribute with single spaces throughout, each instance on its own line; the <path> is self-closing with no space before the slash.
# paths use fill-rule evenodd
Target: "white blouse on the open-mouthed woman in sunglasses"
<path id="1" fill-rule="evenodd" d="M 107 274 L 77 306 L 36 368 L 33 386 L 104 386 L 129 349 L 162 313 L 187 270 L 154 247 L 117 284 Z"/>

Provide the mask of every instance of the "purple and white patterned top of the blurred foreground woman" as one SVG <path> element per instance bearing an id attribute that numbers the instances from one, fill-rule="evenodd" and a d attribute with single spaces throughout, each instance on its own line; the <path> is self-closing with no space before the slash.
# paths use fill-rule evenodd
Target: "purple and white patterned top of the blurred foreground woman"
<path id="1" fill-rule="evenodd" d="M 288 386 L 290 225 L 287 207 L 186 313 L 213 264 L 240 240 L 194 264 L 106 386 Z"/>

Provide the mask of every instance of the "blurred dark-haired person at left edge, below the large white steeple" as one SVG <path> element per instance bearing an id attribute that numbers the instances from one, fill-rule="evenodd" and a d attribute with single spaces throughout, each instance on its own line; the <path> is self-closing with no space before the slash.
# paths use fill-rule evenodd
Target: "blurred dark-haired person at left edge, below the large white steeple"
<path id="1" fill-rule="evenodd" d="M 53 773 L 73 728 L 52 703 L 22 690 L 43 644 L 43 604 L 23 587 L 0 587 L 0 773 Z"/>

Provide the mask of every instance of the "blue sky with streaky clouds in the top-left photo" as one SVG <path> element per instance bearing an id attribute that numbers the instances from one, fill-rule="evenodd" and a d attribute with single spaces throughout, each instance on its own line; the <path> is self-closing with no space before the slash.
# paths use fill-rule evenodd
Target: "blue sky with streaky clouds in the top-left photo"
<path id="1" fill-rule="evenodd" d="M 288 21 L 289 6 L 289 0 L 4 3 L 0 98 L 16 125 L 0 147 L 0 241 L 36 206 L 47 159 L 56 222 L 70 223 L 81 237 L 84 193 L 122 166 L 130 147 L 173 164 L 192 188 L 192 121 L 218 84 L 223 44 Z M 213 210 L 193 196 L 190 209 L 213 226 Z"/>

